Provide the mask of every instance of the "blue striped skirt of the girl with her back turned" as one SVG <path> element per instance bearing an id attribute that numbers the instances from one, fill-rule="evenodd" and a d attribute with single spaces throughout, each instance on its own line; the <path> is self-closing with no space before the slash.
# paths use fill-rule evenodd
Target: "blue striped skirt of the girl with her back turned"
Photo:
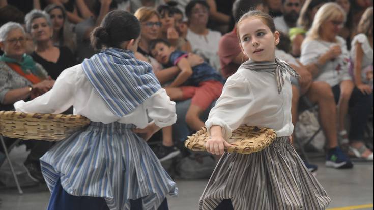
<path id="1" fill-rule="evenodd" d="M 157 209 L 166 195 L 178 195 L 176 183 L 132 124 L 92 122 L 60 141 L 40 158 L 52 192 L 60 178 L 75 196 L 102 197 L 110 209 L 130 209 L 142 198 L 143 209 Z"/>

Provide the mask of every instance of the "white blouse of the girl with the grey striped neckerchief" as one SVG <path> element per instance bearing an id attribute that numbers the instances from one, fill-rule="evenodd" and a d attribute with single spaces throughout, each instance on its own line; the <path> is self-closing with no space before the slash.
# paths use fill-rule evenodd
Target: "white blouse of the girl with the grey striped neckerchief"
<path id="1" fill-rule="evenodd" d="M 229 77 L 205 125 L 222 127 L 223 138 L 231 137 L 242 124 L 274 129 L 277 137 L 290 136 L 294 126 L 291 119 L 292 89 L 290 74 L 284 74 L 284 85 L 278 94 L 272 72 L 245 68 Z"/>

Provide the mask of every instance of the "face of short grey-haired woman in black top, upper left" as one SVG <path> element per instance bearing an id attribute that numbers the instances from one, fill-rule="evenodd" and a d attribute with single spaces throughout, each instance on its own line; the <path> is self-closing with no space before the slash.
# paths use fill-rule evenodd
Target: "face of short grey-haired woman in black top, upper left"
<path id="1" fill-rule="evenodd" d="M 53 29 L 49 27 L 47 20 L 43 17 L 35 18 L 31 23 L 31 36 L 36 41 L 49 40 Z"/>

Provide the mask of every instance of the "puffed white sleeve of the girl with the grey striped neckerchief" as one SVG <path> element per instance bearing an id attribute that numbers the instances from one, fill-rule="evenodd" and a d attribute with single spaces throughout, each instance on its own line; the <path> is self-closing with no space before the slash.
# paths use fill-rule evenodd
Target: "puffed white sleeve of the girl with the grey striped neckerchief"
<path id="1" fill-rule="evenodd" d="M 222 94 L 209 113 L 205 122 L 208 133 L 214 125 L 222 127 L 224 139 L 231 137 L 250 113 L 254 99 L 249 81 L 240 72 L 229 77 L 223 86 Z"/>

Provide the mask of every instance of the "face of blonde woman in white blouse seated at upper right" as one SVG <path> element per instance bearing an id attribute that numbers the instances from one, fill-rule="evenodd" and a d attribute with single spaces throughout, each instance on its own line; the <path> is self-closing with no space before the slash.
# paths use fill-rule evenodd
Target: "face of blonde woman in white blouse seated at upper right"
<path id="1" fill-rule="evenodd" d="M 335 39 L 341 28 L 344 26 L 344 22 L 341 21 L 342 19 L 343 15 L 341 15 L 339 18 L 324 21 L 320 28 L 320 36 L 327 40 Z"/>

